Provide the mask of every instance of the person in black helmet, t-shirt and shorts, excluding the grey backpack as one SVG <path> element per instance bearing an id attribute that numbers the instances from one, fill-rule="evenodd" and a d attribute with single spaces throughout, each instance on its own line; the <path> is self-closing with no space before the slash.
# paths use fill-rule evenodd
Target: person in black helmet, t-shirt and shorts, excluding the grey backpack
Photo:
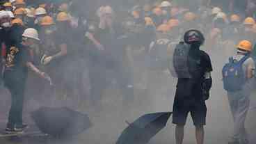
<path id="1" fill-rule="evenodd" d="M 211 60 L 205 51 L 200 50 L 204 42 L 202 33 L 189 30 L 184 35 L 184 42 L 189 45 L 188 67 L 189 77 L 179 77 L 175 101 L 173 104 L 173 123 L 176 125 L 176 141 L 181 144 L 184 137 L 184 125 L 188 113 L 191 113 L 195 125 L 198 144 L 204 141 L 204 125 L 207 107 L 205 100 L 209 99 L 212 71 Z M 175 63 L 175 61 L 174 61 Z M 179 74 L 179 70 L 176 70 Z"/>

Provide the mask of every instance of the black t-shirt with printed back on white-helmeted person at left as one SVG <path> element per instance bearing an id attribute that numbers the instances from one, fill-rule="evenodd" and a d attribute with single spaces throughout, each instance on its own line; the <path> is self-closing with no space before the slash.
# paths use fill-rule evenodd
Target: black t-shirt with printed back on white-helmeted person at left
<path id="1" fill-rule="evenodd" d="M 12 72 L 14 77 L 26 77 L 28 73 L 26 63 L 30 61 L 29 49 L 24 45 L 6 48 L 6 72 Z"/>

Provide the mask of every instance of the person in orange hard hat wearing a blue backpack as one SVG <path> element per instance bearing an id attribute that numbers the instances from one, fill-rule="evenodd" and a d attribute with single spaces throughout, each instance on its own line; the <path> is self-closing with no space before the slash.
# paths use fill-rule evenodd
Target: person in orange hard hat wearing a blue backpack
<path id="1" fill-rule="evenodd" d="M 223 86 L 227 91 L 230 111 L 234 118 L 234 133 L 230 144 L 248 143 L 245 122 L 255 77 L 255 61 L 250 56 L 252 51 L 253 44 L 248 40 L 241 40 L 237 45 L 237 54 L 230 57 L 223 67 Z"/>

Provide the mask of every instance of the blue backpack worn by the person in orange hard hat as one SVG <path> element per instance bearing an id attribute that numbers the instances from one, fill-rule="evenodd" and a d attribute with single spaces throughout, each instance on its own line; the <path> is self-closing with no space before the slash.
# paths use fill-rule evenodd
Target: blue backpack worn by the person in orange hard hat
<path id="1" fill-rule="evenodd" d="M 246 55 L 240 61 L 229 58 L 229 63 L 225 64 L 222 70 L 224 89 L 228 92 L 241 90 L 246 83 L 246 75 L 243 72 L 243 63 L 250 56 Z"/>

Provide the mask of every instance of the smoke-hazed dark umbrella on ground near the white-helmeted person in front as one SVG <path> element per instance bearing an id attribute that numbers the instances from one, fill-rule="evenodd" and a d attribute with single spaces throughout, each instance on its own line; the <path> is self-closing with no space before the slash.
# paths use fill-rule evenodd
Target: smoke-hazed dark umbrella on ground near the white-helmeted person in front
<path id="1" fill-rule="evenodd" d="M 88 115 L 66 107 L 42 107 L 31 114 L 40 131 L 51 136 L 72 136 L 92 126 Z"/>

